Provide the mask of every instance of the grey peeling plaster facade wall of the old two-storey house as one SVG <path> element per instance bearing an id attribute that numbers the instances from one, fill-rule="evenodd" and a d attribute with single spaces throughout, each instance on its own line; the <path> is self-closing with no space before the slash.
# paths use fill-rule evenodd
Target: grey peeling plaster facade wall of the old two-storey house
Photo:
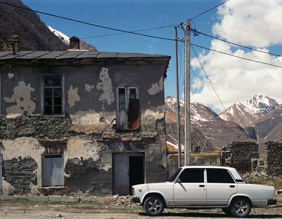
<path id="1" fill-rule="evenodd" d="M 71 191 L 111 194 L 115 153 L 144 153 L 145 182 L 167 178 L 162 64 L 0 66 L 0 71 L 0 153 L 4 165 L 36 164 L 26 179 L 30 192 L 42 186 L 41 140 L 67 141 L 64 186 Z M 40 116 L 41 75 L 50 73 L 64 74 L 64 117 Z M 140 132 L 115 130 L 116 85 L 138 85 Z M 17 190 L 14 181 L 4 184 Z"/>

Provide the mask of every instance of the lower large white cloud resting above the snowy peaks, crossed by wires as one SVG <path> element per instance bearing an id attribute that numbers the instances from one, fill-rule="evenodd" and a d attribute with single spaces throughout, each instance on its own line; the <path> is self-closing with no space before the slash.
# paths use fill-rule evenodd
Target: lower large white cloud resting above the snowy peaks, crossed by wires
<path id="1" fill-rule="evenodd" d="M 282 57 L 276 58 L 256 51 L 244 52 L 241 49 L 232 52 L 230 46 L 221 41 L 213 40 L 211 48 L 246 59 L 282 66 Z M 265 48 L 260 50 L 268 52 Z M 200 53 L 199 59 L 225 108 L 236 102 L 245 101 L 258 93 L 282 100 L 282 68 L 251 62 L 213 51 L 206 55 Z M 191 65 L 192 68 L 200 68 L 197 58 L 191 59 Z M 223 107 L 203 70 L 200 71 L 200 76 L 198 88 L 199 85 L 203 85 L 202 90 L 191 96 L 191 102 L 200 102 L 206 105 L 213 104 L 214 108 L 218 109 L 217 111 L 222 111 Z M 195 86 L 196 81 L 194 80 L 191 87 Z"/>

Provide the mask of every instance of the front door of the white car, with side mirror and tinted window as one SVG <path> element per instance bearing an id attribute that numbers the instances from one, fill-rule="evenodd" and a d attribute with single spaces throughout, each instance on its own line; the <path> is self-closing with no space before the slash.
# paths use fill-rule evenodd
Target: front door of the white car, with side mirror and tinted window
<path id="1" fill-rule="evenodd" d="M 173 188 L 173 202 L 176 205 L 205 205 L 206 184 L 204 168 L 187 168 L 182 171 Z"/>

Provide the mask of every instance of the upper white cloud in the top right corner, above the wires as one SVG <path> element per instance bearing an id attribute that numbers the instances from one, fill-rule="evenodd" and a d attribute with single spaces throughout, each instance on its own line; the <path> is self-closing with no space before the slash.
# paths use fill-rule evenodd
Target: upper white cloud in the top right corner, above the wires
<path id="1" fill-rule="evenodd" d="M 218 16 L 213 33 L 227 41 L 254 47 L 282 43 L 281 0 L 228 1 L 218 8 Z"/>

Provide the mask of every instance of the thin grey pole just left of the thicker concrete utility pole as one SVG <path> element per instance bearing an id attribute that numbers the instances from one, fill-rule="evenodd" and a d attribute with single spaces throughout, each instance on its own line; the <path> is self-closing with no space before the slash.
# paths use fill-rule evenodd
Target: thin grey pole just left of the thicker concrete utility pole
<path id="1" fill-rule="evenodd" d="M 178 142 L 178 168 L 181 166 L 181 146 L 180 146 L 180 119 L 179 119 L 179 85 L 178 85 L 178 50 L 177 50 L 177 28 L 174 27 L 174 39 L 175 39 L 175 77 L 176 77 L 176 128 L 177 128 L 177 142 Z"/>

